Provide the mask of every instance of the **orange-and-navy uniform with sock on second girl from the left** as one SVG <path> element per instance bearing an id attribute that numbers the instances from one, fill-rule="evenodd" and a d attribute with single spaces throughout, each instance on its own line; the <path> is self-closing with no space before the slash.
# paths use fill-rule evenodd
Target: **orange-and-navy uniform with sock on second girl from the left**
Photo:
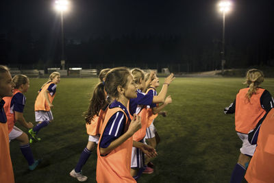
<path id="1" fill-rule="evenodd" d="M 20 90 L 14 89 L 13 96 L 3 97 L 3 100 L 5 100 L 4 110 L 8 119 L 9 138 L 10 141 L 12 141 L 23 134 L 23 131 L 14 125 L 16 123 L 14 115 L 15 112 L 23 113 L 26 97 L 23 95 L 23 93 L 21 93 Z M 20 149 L 30 166 L 29 169 L 33 170 L 36 167 L 36 164 L 34 164 L 35 160 L 29 143 L 25 145 L 20 145 Z"/>

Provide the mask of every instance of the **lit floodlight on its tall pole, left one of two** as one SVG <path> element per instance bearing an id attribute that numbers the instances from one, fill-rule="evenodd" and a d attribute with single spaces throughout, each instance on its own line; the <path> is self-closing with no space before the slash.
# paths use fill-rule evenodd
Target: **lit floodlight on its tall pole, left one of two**
<path id="1" fill-rule="evenodd" d="M 55 1 L 55 10 L 60 12 L 61 15 L 61 34 L 62 34 L 62 58 L 61 58 L 61 65 L 62 65 L 62 70 L 64 70 L 64 16 L 63 13 L 69 10 L 69 1 L 67 0 L 58 0 Z"/>

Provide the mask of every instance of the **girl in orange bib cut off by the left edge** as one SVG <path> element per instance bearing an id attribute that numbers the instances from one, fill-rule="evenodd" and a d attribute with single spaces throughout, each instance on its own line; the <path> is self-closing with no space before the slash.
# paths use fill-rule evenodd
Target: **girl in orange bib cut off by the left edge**
<path id="1" fill-rule="evenodd" d="M 14 84 L 8 68 L 0 65 L 0 182 L 14 183 L 12 160 L 10 159 L 10 143 L 8 123 L 3 106 L 3 97 L 11 97 Z"/>

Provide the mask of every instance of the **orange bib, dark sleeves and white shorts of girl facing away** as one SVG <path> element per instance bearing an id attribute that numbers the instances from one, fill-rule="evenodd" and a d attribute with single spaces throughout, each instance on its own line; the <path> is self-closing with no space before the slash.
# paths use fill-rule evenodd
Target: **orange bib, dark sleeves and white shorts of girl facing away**
<path id="1" fill-rule="evenodd" d="M 246 98 L 249 88 L 243 88 L 236 95 L 236 99 L 229 107 L 225 108 L 225 114 L 235 112 L 235 130 L 242 140 L 240 152 L 253 156 L 256 145 L 248 141 L 248 133 L 253 130 L 260 121 L 264 120 L 266 114 L 273 108 L 273 98 L 268 90 L 258 88 L 251 96 L 250 102 Z"/>

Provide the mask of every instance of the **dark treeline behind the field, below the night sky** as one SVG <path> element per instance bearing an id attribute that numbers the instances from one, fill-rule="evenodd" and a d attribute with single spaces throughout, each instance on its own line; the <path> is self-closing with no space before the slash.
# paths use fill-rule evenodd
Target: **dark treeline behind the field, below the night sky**
<path id="1" fill-rule="evenodd" d="M 221 40 L 168 35 L 121 38 L 110 36 L 88 40 L 65 39 L 66 67 L 101 69 L 114 66 L 138 66 L 142 69 L 169 67 L 173 72 L 210 71 L 221 68 Z M 216 35 L 216 37 L 219 35 Z M 274 59 L 273 39 L 237 44 L 227 39 L 226 68 L 271 66 Z M 10 31 L 0 34 L 0 62 L 20 69 L 60 67 L 60 36 L 49 38 L 40 34 L 34 38 L 30 31 Z"/>

